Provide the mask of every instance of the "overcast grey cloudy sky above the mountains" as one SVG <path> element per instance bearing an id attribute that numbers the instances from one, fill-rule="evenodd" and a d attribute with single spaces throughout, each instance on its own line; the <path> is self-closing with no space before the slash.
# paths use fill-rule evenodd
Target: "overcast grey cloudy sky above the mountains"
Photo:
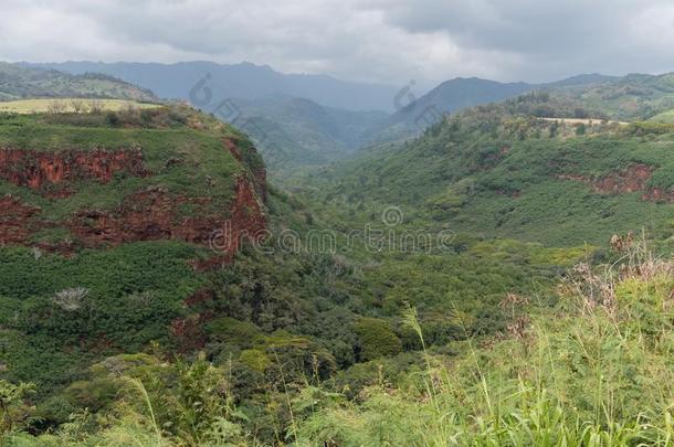
<path id="1" fill-rule="evenodd" d="M 2 0 L 0 60 L 249 61 L 387 84 L 674 71 L 672 0 Z"/>

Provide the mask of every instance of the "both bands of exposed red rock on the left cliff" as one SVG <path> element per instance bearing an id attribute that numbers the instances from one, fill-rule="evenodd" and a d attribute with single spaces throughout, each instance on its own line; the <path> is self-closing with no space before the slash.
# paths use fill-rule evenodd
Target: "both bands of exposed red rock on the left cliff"
<path id="1" fill-rule="evenodd" d="M 238 150 L 235 146 L 227 149 Z M 240 160 L 240 158 L 239 158 Z M 148 177 L 137 150 L 22 151 L 0 150 L 0 178 L 59 201 L 74 193 L 74 181 L 108 182 L 117 172 Z M 59 222 L 42 215 L 39 206 L 21 199 L 0 198 L 0 245 L 35 245 L 32 237 L 45 228 L 64 228 L 72 241 L 44 248 L 71 252 L 76 247 L 105 247 L 138 241 L 177 240 L 209 246 L 213 258 L 196 263 L 210 268 L 230 263 L 245 240 L 255 241 L 266 228 L 264 171 L 244 169 L 234 182 L 229 207 L 213 211 L 209 196 L 186 196 L 161 187 L 126 195 L 113 210 L 80 210 Z M 209 206 L 210 205 L 210 206 Z M 189 215 L 181 209 L 192 210 Z"/>

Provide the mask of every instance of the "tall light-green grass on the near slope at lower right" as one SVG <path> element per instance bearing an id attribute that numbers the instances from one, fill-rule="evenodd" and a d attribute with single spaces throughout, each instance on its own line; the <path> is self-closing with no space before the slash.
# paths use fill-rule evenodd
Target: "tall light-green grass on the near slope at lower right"
<path id="1" fill-rule="evenodd" d="M 665 446 L 674 421 L 674 268 L 628 255 L 579 266 L 554 311 L 515 318 L 506 339 L 426 353 L 408 386 L 371 387 L 299 424 L 307 445 Z M 409 323 L 420 337 L 413 315 Z M 301 443 L 302 444 L 302 443 Z"/>

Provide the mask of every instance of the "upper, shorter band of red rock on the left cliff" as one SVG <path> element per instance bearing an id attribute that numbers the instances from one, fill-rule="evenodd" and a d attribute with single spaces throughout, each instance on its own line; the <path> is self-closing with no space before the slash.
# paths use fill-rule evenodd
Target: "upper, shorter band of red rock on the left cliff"
<path id="1" fill-rule="evenodd" d="M 69 182 L 94 179 L 109 182 L 117 172 L 145 177 L 138 149 L 34 151 L 0 148 L 0 178 L 46 195 L 67 195 Z"/>

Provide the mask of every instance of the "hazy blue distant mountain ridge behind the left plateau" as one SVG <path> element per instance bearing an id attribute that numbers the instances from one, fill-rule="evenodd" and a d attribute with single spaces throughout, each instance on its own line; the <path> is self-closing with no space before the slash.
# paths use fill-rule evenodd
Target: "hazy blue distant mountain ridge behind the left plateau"
<path id="1" fill-rule="evenodd" d="M 71 74 L 103 73 L 151 88 L 165 98 L 188 99 L 192 86 L 207 74 L 211 76 L 213 96 L 218 99 L 260 99 L 274 95 L 309 98 L 328 107 L 347 110 L 393 109 L 398 87 L 347 82 L 326 75 L 283 74 L 267 65 L 213 62 L 160 63 L 22 63 L 25 66 L 53 68 Z"/>

